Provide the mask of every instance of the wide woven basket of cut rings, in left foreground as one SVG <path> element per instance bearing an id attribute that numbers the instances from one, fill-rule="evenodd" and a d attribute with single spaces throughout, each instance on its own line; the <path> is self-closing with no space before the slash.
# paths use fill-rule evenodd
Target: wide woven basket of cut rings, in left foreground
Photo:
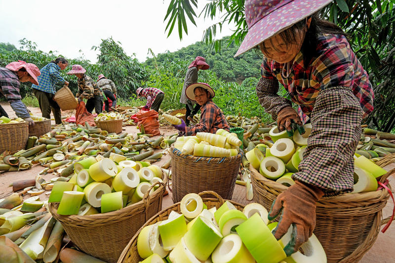
<path id="1" fill-rule="evenodd" d="M 142 201 L 117 211 L 89 216 L 62 216 L 57 213 L 59 203 L 49 203 L 49 212 L 62 224 L 79 249 L 105 262 L 115 263 L 138 229 L 162 209 L 167 176 L 163 173 L 162 177 L 163 183 L 152 186 L 160 185 L 154 193 L 145 194 Z"/>

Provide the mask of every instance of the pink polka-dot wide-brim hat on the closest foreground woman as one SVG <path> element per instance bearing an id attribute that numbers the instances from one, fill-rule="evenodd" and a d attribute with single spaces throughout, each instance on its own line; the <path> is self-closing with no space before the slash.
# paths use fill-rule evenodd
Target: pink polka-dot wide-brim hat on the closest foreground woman
<path id="1" fill-rule="evenodd" d="M 314 14 L 333 0 L 246 0 L 248 33 L 235 57 Z"/>

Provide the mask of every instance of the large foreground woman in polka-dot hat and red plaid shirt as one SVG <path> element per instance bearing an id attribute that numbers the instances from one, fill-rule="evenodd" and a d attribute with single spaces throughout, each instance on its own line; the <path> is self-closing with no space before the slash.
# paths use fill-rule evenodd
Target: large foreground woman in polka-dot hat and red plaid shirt
<path id="1" fill-rule="evenodd" d="M 287 256 L 312 235 L 316 201 L 352 191 L 361 120 L 373 110 L 372 86 L 345 33 L 315 14 L 331 1 L 246 0 L 248 33 L 235 55 L 254 47 L 262 51 L 256 92 L 280 131 L 307 117 L 313 127 L 299 172 L 292 176 L 296 184 L 278 195 L 269 213 L 270 220 L 281 213 L 276 239 L 293 227 Z M 300 114 L 277 95 L 278 82 Z"/>

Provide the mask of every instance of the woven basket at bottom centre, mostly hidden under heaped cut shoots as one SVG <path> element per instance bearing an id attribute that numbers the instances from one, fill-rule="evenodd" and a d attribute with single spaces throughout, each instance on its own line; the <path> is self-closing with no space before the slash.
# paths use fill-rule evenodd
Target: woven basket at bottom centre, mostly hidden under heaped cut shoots
<path id="1" fill-rule="evenodd" d="M 217 194 L 214 191 L 203 191 L 199 193 L 200 196 L 204 197 L 204 196 L 210 196 L 210 195 L 214 195 L 215 198 L 203 198 L 203 203 L 206 204 L 207 209 L 210 209 L 212 207 L 216 207 L 219 208 L 226 200 L 224 200 L 219 194 Z M 230 201 L 232 204 L 235 205 L 235 207 L 240 210 L 243 211 L 244 206 L 241 204 L 238 204 L 236 202 Z M 152 217 L 149 221 L 147 221 L 147 223 L 145 223 L 139 230 L 138 232 L 133 236 L 133 238 L 130 240 L 130 242 L 127 244 L 127 246 L 125 247 L 125 249 L 123 250 L 122 254 L 120 255 L 119 259 L 118 259 L 118 263 L 137 263 L 142 261 L 143 259 L 140 258 L 138 252 L 137 252 L 137 237 L 139 236 L 139 233 L 141 231 L 141 229 L 143 229 L 143 227 L 147 226 L 147 225 L 153 225 L 159 221 L 163 221 L 166 220 L 171 211 L 176 211 L 178 213 L 181 213 L 180 210 L 180 203 L 176 203 L 168 208 L 166 208 L 165 210 L 160 211 L 158 214 L 156 214 L 154 217 Z"/>

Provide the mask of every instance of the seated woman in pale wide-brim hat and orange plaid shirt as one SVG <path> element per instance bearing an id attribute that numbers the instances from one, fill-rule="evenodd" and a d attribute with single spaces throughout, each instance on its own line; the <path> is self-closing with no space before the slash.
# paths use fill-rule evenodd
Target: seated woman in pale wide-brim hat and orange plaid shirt
<path id="1" fill-rule="evenodd" d="M 188 99 L 200 105 L 200 122 L 193 126 L 186 126 L 183 119 L 181 124 L 173 125 L 183 135 L 196 135 L 197 132 L 215 133 L 219 129 L 229 131 L 229 123 L 221 109 L 212 101 L 215 93 L 207 83 L 194 83 L 189 85 L 185 94 Z"/>

